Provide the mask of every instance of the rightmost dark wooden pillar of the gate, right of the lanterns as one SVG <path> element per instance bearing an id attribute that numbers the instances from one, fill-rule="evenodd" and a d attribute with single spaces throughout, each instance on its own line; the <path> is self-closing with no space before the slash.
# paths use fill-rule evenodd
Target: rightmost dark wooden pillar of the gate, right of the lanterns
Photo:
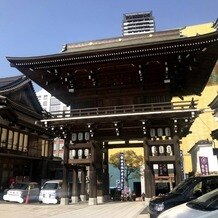
<path id="1" fill-rule="evenodd" d="M 175 155 L 175 165 L 174 165 L 175 183 L 176 185 L 178 185 L 182 181 L 182 166 L 181 166 L 179 137 L 175 135 L 173 137 L 173 141 L 174 141 L 173 146 L 174 146 L 174 155 Z"/>

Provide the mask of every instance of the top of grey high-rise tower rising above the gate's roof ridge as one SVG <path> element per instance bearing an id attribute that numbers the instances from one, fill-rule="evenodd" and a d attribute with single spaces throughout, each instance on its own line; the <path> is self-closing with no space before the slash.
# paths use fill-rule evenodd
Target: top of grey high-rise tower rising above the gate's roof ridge
<path id="1" fill-rule="evenodd" d="M 152 32 L 155 32 L 155 22 L 151 11 L 123 15 L 123 36 Z"/>

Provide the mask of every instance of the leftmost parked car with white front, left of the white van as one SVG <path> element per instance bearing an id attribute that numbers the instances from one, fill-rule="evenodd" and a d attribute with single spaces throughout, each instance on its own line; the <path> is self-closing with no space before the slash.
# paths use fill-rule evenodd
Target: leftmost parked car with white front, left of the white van
<path id="1" fill-rule="evenodd" d="M 6 190 L 3 200 L 23 203 L 28 197 L 29 201 L 38 200 L 39 185 L 36 182 L 18 182 Z"/>

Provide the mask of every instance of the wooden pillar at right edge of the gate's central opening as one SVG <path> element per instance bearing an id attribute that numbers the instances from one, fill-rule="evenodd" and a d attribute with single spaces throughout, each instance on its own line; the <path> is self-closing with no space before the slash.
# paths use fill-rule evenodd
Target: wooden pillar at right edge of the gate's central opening
<path id="1" fill-rule="evenodd" d="M 144 160 L 145 160 L 145 168 L 144 168 L 144 181 L 145 181 L 145 197 L 151 198 L 155 195 L 155 179 L 154 179 L 154 171 L 153 166 L 149 162 L 149 145 L 147 140 L 144 139 Z"/>

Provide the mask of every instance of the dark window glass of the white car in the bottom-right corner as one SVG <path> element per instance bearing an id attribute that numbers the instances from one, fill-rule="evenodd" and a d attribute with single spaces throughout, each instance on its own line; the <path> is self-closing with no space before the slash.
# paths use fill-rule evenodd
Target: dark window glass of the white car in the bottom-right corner
<path id="1" fill-rule="evenodd" d="M 218 189 L 215 189 L 201 197 L 187 203 L 188 207 L 198 210 L 217 210 L 218 209 Z"/>

